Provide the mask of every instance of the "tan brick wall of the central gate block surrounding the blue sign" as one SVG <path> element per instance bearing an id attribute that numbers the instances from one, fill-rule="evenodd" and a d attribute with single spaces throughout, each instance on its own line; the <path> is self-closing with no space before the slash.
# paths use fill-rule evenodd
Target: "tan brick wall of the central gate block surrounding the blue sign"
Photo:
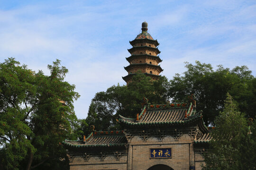
<path id="1" fill-rule="evenodd" d="M 154 136 L 146 141 L 139 136 L 134 136 L 129 142 L 129 149 L 132 149 L 132 152 L 128 151 L 128 154 L 132 154 L 132 163 L 128 170 L 147 170 L 156 164 L 165 164 L 174 170 L 189 170 L 189 144 L 191 143 L 191 137 L 186 134 L 178 140 L 172 136 L 166 136 L 163 141 L 159 141 Z M 171 148 L 172 158 L 150 159 L 150 148 Z"/>

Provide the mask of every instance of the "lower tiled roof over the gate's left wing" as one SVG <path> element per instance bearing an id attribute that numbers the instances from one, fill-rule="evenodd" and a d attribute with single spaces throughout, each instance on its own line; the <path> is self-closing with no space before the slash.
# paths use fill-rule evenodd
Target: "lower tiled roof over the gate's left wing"
<path id="1" fill-rule="evenodd" d="M 123 131 L 102 131 L 91 133 L 84 141 L 65 140 L 62 144 L 71 147 L 124 146 L 127 143 Z"/>

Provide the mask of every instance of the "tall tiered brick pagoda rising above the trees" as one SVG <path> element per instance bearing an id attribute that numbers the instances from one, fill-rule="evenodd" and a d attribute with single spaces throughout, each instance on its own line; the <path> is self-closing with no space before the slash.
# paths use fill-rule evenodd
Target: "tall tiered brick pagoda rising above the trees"
<path id="1" fill-rule="evenodd" d="M 159 43 L 147 33 L 146 22 L 142 23 L 141 30 L 142 33 L 138 34 L 133 41 L 130 41 L 132 48 L 128 49 L 128 52 L 131 56 L 126 58 L 130 65 L 125 67 L 128 75 L 122 77 L 127 84 L 132 81 L 132 76 L 136 75 L 137 72 L 144 73 L 146 76 L 156 80 L 163 71 L 160 65 L 158 65 L 162 62 L 162 59 L 157 56 L 160 53 L 157 48 Z"/>

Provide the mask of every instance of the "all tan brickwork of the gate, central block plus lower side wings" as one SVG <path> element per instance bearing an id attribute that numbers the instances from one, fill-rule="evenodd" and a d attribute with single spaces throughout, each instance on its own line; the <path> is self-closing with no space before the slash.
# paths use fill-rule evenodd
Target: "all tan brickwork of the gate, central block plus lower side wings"
<path id="1" fill-rule="evenodd" d="M 167 165 L 174 170 L 190 170 L 191 162 L 196 170 L 201 170 L 203 158 L 201 153 L 194 153 L 192 142 L 192 137 L 188 134 L 178 140 L 173 136 L 165 136 L 162 141 L 155 136 L 146 140 L 141 136 L 134 136 L 131 140 L 128 139 L 127 154 L 121 155 L 119 159 L 112 154 L 115 153 L 114 150 L 103 160 L 100 155 L 91 156 L 87 161 L 81 155 L 74 156 L 73 160 L 70 159 L 70 170 L 147 170 L 157 164 Z M 171 148 L 172 158 L 150 159 L 150 148 Z"/>

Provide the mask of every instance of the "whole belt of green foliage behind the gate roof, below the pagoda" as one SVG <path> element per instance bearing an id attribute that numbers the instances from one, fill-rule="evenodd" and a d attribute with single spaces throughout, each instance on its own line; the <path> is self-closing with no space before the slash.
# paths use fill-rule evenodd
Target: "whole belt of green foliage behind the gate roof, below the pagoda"
<path id="1" fill-rule="evenodd" d="M 219 65 L 213 70 L 210 64 L 196 61 L 195 65 L 186 62 L 185 67 L 183 75 L 176 74 L 169 82 L 165 76 L 151 81 L 150 77 L 138 73 L 128 86 L 113 85 L 106 92 L 96 93 L 87 123 L 96 125 L 96 130 L 119 128 L 117 116 L 135 118 L 143 97 L 152 104 L 161 104 L 170 100 L 187 102 L 190 94 L 195 95 L 197 110 L 202 110 L 206 125 L 213 125 L 215 117 L 224 109 L 227 93 L 234 97 L 239 110 L 247 117 L 254 117 L 256 78 L 246 66 L 229 69 Z M 86 134 L 89 132 L 87 128 Z"/>

